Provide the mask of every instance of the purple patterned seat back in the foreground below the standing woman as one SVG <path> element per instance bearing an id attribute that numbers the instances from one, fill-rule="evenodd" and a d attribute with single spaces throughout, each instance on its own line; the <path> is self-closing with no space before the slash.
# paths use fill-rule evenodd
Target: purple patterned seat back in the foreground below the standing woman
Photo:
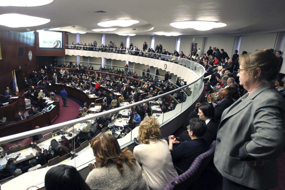
<path id="1" fill-rule="evenodd" d="M 208 163 L 214 156 L 216 148 L 216 141 L 214 140 L 210 145 L 210 149 L 200 154 L 191 164 L 189 169 L 178 177 L 174 178 L 170 183 L 164 187 L 163 190 L 188 190 L 194 186 L 197 179 L 200 178 Z M 178 169 L 179 170 L 179 169 Z"/>

